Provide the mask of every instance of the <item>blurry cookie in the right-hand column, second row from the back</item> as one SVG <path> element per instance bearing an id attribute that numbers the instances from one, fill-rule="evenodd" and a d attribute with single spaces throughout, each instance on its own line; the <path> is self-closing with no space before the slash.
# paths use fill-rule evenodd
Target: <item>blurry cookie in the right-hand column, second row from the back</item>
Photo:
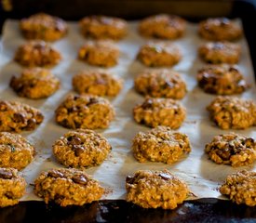
<path id="1" fill-rule="evenodd" d="M 235 64 L 240 59 L 240 46 L 228 42 L 211 42 L 198 49 L 199 56 L 207 63 Z"/>

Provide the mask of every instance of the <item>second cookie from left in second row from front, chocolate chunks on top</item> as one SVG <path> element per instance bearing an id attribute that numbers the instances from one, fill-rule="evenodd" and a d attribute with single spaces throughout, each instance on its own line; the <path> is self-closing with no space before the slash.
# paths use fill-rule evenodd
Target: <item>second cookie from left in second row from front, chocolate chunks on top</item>
<path id="1" fill-rule="evenodd" d="M 111 145 L 101 134 L 77 129 L 58 139 L 52 149 L 61 164 L 82 168 L 101 164 L 111 151 Z"/>

